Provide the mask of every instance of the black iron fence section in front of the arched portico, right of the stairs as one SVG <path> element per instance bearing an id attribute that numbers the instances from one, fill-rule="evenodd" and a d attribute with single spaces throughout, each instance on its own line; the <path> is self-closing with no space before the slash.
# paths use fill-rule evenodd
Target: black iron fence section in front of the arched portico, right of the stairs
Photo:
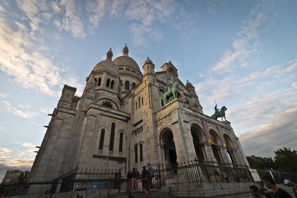
<path id="1" fill-rule="evenodd" d="M 204 161 L 198 163 L 198 160 L 191 160 L 174 164 L 169 169 L 157 167 L 154 170 L 154 185 L 161 188 L 162 186 L 177 186 L 189 184 L 204 183 L 236 183 L 236 182 L 253 182 L 252 175 L 247 166 L 233 167 L 233 164 L 217 164 L 217 162 Z"/>

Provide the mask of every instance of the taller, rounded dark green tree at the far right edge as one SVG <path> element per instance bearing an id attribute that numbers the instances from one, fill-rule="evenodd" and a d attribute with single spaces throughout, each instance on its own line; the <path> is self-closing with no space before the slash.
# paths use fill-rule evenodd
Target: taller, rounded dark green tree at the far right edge
<path id="1" fill-rule="evenodd" d="M 279 149 L 277 151 L 273 151 L 274 163 L 276 169 L 284 172 L 297 172 L 297 151 L 291 151 L 290 148 L 287 149 L 283 147 L 283 149 Z"/>

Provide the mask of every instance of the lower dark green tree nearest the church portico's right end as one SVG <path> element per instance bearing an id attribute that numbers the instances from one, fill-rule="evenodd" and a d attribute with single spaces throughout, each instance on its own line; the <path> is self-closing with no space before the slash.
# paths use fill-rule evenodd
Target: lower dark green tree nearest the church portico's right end
<path id="1" fill-rule="evenodd" d="M 247 161 L 249 162 L 249 166 L 254 169 L 274 169 L 274 161 L 271 157 L 257 157 L 257 156 L 247 156 Z"/>

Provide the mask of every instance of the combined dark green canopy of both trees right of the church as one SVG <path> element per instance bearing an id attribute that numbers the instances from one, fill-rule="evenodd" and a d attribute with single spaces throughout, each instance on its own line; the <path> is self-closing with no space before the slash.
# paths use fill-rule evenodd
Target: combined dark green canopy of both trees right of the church
<path id="1" fill-rule="evenodd" d="M 274 151 L 274 158 L 247 156 L 249 166 L 254 169 L 274 169 L 283 172 L 297 172 L 297 151 L 283 148 Z"/>

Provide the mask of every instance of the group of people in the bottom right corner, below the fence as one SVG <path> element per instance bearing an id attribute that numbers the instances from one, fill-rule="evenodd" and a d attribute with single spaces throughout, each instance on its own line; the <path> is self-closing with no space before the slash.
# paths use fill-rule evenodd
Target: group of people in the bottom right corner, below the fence
<path id="1" fill-rule="evenodd" d="M 252 196 L 254 198 L 292 198 L 291 195 L 285 191 L 282 188 L 277 187 L 275 181 L 271 176 L 264 176 L 263 177 L 263 182 L 259 182 L 259 187 L 258 189 L 257 186 L 252 185 L 249 187 L 249 191 L 251 192 Z M 286 182 L 285 182 L 286 181 Z M 293 192 L 297 198 L 297 186 L 296 184 L 292 184 L 289 180 L 289 178 L 285 178 L 285 185 L 287 186 L 293 186 Z M 268 189 L 271 189 L 272 191 L 268 191 L 267 189 L 264 188 L 264 184 L 267 186 Z"/>

